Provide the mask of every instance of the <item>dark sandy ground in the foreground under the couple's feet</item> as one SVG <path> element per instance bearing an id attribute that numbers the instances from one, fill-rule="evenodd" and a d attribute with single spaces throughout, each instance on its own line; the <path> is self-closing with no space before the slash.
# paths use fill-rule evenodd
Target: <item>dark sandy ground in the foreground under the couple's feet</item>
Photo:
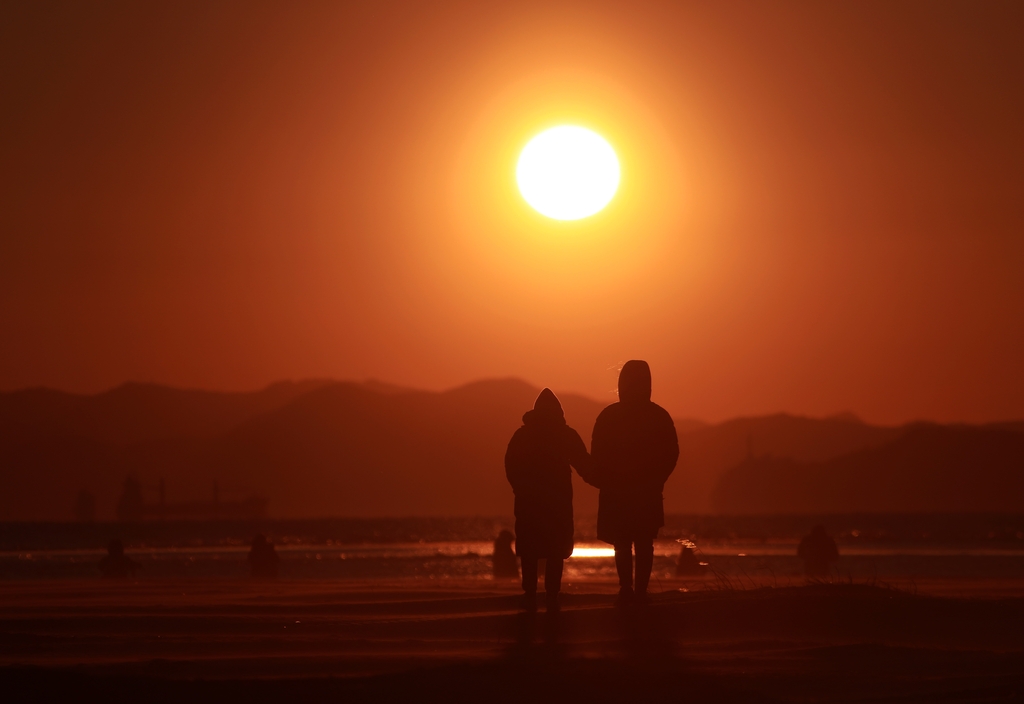
<path id="1" fill-rule="evenodd" d="M 667 585 L 668 586 L 668 585 Z M 0 700 L 1024 701 L 1024 599 L 812 584 L 0 583 Z"/>

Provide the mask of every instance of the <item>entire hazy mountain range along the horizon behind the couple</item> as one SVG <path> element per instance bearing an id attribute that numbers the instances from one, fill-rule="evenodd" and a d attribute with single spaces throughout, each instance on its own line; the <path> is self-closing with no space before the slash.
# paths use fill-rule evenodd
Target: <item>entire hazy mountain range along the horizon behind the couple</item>
<path id="1" fill-rule="evenodd" d="M 539 389 L 435 393 L 307 381 L 252 393 L 127 384 L 0 394 L 0 520 L 112 519 L 126 477 L 148 502 L 265 497 L 273 517 L 509 515 L 505 445 Z M 604 404 L 560 394 L 586 440 Z M 1024 511 L 1024 424 L 899 428 L 849 414 L 678 420 L 671 513 Z M 597 492 L 577 482 L 577 512 Z"/>

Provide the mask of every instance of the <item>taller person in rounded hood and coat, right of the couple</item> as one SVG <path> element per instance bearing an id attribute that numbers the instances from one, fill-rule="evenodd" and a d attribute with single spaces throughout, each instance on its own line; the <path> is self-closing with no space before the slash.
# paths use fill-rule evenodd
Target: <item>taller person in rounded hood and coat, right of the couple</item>
<path id="1" fill-rule="evenodd" d="M 618 402 L 601 411 L 591 442 L 591 484 L 601 490 L 597 537 L 615 547 L 620 603 L 646 601 L 654 538 L 665 525 L 662 491 L 679 458 L 672 416 L 650 400 L 650 367 L 633 359 L 618 372 Z M 586 479 L 586 477 L 585 477 Z"/>

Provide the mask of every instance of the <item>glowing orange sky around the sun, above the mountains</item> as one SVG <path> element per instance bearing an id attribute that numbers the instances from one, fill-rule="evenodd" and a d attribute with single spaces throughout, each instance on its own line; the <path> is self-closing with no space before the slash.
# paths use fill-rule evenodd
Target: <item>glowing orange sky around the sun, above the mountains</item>
<path id="1" fill-rule="evenodd" d="M 0 388 L 483 377 L 1024 417 L 1024 10 L 7 3 Z M 623 160 L 545 221 L 545 126 Z"/>

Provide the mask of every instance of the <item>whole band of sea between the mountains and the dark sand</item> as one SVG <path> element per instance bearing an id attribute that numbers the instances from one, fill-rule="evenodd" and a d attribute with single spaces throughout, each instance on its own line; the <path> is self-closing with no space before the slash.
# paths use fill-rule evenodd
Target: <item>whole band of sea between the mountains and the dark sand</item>
<path id="1" fill-rule="evenodd" d="M 654 579 L 675 576 L 677 539 L 692 540 L 701 579 L 785 583 L 800 578 L 797 544 L 810 525 L 837 537 L 836 572 L 857 580 L 980 577 L 1024 584 L 1024 517 L 670 516 L 655 543 Z M 283 579 L 492 579 L 494 537 L 502 519 L 332 519 L 323 521 L 140 524 L 0 524 L 0 578 L 98 576 L 111 538 L 124 540 L 139 579 L 243 578 L 256 533 L 276 544 Z M 565 579 L 613 580 L 610 545 L 594 538 L 593 520 L 577 521 L 577 549 Z M 655 582 L 656 586 L 656 582 Z"/>

